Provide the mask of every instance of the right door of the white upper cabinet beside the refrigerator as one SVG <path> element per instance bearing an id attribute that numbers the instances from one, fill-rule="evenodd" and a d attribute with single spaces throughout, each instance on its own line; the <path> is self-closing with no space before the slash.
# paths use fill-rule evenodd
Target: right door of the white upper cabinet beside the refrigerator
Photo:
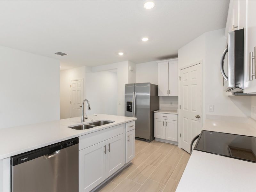
<path id="1" fill-rule="evenodd" d="M 178 96 L 178 61 L 169 62 L 169 91 L 170 96 Z"/>

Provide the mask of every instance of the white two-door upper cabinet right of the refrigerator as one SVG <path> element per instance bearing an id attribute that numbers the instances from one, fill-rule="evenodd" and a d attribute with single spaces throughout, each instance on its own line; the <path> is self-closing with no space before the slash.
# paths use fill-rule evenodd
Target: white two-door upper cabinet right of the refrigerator
<path id="1" fill-rule="evenodd" d="M 178 96 L 178 59 L 158 62 L 158 96 Z"/>

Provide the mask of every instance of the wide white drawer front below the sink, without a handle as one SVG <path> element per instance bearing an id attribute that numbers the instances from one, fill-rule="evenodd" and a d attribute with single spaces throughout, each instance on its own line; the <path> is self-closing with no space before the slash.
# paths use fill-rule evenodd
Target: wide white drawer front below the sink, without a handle
<path id="1" fill-rule="evenodd" d="M 92 132 L 79 137 L 79 150 L 90 147 L 104 140 L 124 133 L 125 124 L 116 125 L 100 131 Z"/>

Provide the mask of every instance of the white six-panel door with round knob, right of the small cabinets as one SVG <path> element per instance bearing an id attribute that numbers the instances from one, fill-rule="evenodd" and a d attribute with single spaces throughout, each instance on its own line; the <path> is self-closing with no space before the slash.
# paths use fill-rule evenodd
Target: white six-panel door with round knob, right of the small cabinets
<path id="1" fill-rule="evenodd" d="M 200 63 L 180 70 L 180 140 L 181 148 L 188 153 L 191 140 L 202 130 L 201 65 Z"/>

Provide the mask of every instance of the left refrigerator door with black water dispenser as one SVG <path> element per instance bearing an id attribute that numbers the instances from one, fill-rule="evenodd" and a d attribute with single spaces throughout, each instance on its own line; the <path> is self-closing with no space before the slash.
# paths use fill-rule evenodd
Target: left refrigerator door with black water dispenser
<path id="1" fill-rule="evenodd" d="M 124 85 L 124 116 L 133 117 L 134 83 Z"/>

